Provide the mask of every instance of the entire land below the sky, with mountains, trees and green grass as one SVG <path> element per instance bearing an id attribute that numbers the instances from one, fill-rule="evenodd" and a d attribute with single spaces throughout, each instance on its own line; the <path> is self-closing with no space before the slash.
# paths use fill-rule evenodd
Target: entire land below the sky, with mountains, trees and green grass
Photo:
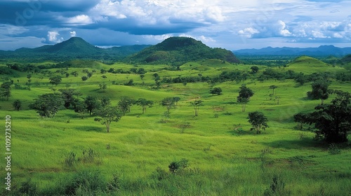
<path id="1" fill-rule="evenodd" d="M 74 37 L 0 68 L 3 195 L 351 192 L 350 55 L 241 61 L 193 38 L 100 49 Z"/>

